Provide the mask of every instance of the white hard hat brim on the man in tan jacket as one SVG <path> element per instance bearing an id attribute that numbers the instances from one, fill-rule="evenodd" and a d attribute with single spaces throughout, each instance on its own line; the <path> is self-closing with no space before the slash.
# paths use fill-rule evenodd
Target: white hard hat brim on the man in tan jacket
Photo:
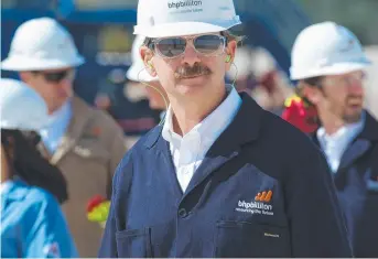
<path id="1" fill-rule="evenodd" d="M 3 71 L 47 71 L 47 69 L 60 69 L 65 67 L 76 67 L 83 65 L 85 58 L 80 55 L 76 56 L 72 61 L 61 60 L 37 60 L 29 58 L 24 56 L 9 56 L 1 62 L 1 69 Z"/>

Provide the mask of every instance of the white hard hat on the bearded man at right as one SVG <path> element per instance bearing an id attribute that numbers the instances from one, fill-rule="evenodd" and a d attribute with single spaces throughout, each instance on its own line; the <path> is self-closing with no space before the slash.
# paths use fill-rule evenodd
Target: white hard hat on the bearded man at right
<path id="1" fill-rule="evenodd" d="M 291 63 L 291 79 L 339 75 L 370 64 L 358 39 L 334 22 L 305 28 L 295 39 Z"/>

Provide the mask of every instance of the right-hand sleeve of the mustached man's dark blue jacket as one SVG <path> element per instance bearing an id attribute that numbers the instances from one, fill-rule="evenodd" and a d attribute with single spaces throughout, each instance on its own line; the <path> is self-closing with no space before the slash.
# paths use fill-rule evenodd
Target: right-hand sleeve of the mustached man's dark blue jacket
<path id="1" fill-rule="evenodd" d="M 305 149 L 307 148 L 307 149 Z M 309 147 L 302 147 L 309 150 Z M 346 225 L 321 151 L 302 152 L 284 186 L 293 257 L 352 257 Z"/>

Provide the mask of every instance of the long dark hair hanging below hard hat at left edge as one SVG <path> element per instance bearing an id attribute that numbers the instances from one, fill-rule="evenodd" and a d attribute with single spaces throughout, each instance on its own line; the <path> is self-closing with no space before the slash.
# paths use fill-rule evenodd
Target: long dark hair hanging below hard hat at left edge
<path id="1" fill-rule="evenodd" d="M 1 144 L 9 163 L 10 177 L 21 179 L 31 186 L 52 193 L 62 204 L 68 199 L 63 173 L 37 151 L 37 134 L 20 130 L 1 129 Z"/>

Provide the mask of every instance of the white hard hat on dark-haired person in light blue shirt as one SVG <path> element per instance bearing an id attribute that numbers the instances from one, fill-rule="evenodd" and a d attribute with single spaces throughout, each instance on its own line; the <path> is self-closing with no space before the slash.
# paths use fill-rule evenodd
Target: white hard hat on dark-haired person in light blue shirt
<path id="1" fill-rule="evenodd" d="M 37 131 L 48 121 L 47 106 L 31 87 L 15 79 L 0 79 L 1 129 Z"/>

